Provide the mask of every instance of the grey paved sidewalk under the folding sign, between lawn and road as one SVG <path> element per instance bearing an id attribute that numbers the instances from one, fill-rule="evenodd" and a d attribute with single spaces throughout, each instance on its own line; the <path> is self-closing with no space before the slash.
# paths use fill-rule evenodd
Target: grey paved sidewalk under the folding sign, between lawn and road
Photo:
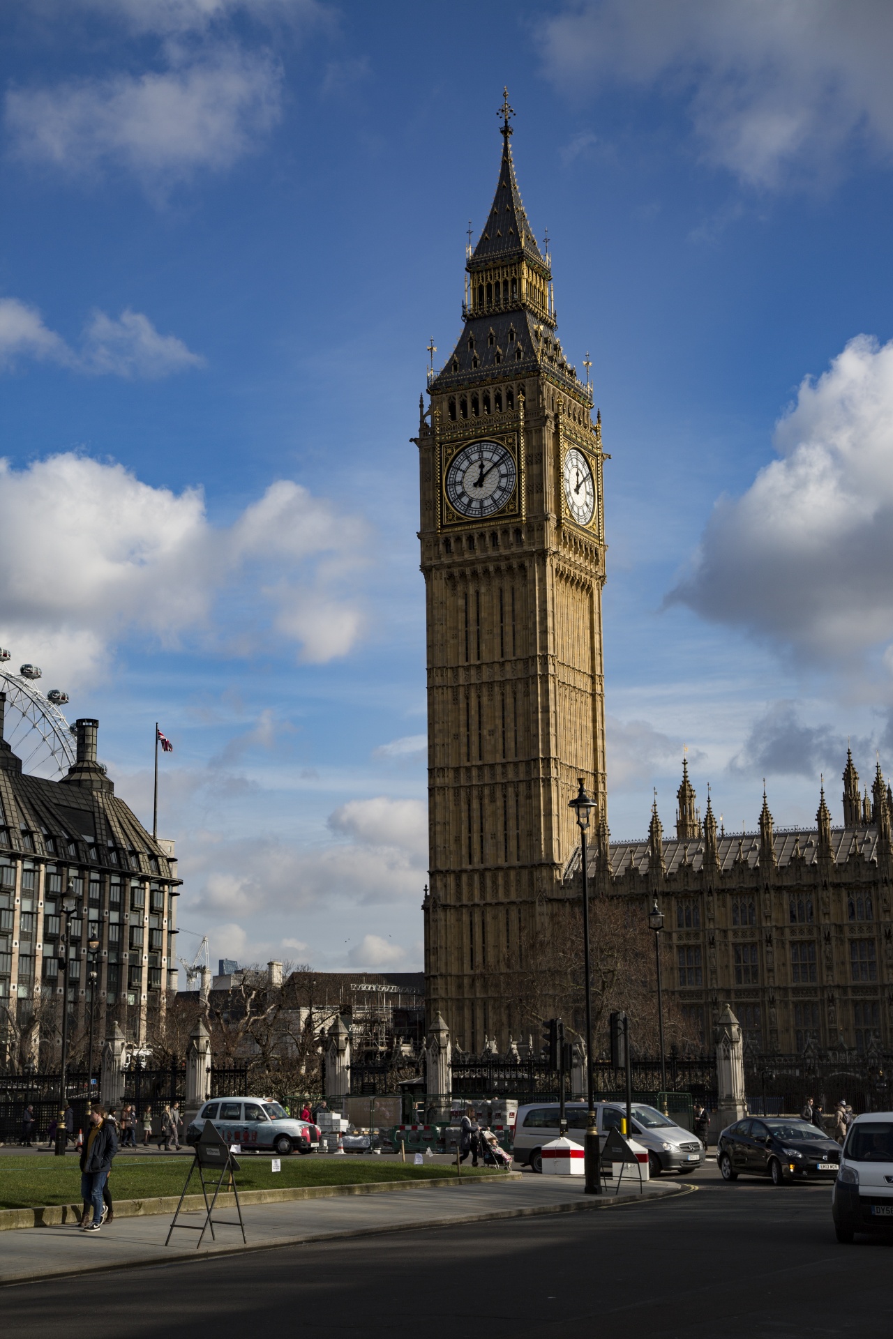
<path id="1" fill-rule="evenodd" d="M 195 1260 L 201 1255 L 258 1251 L 300 1241 L 399 1232 L 407 1228 L 451 1227 L 486 1218 L 514 1218 L 542 1213 L 573 1213 L 620 1208 L 629 1204 L 687 1194 L 694 1186 L 648 1182 L 644 1194 L 584 1194 L 582 1177 L 544 1177 L 533 1173 L 497 1184 L 473 1182 L 449 1188 L 412 1185 L 399 1194 L 363 1197 L 333 1196 L 285 1204 L 253 1205 L 242 1210 L 248 1245 L 238 1227 L 217 1228 L 217 1241 L 205 1233 L 201 1252 L 198 1232 L 174 1232 L 165 1247 L 173 1214 L 120 1218 L 102 1232 L 83 1233 L 72 1225 L 20 1228 L 0 1239 L 0 1284 L 27 1279 L 59 1277 L 96 1269 Z M 220 1217 L 236 1220 L 234 1208 L 220 1209 Z M 204 1214 L 181 1216 L 199 1225 Z"/>

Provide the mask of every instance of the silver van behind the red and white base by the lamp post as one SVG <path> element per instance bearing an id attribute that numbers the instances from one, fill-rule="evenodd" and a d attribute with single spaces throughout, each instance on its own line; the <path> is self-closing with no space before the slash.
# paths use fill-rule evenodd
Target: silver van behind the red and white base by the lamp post
<path id="1" fill-rule="evenodd" d="M 518 1107 L 513 1157 L 521 1166 L 542 1172 L 542 1145 L 558 1138 L 558 1110 L 557 1102 L 532 1102 Z M 589 1107 L 585 1102 L 568 1102 L 566 1114 L 568 1138 L 582 1145 Z M 600 1144 L 604 1146 L 608 1130 L 625 1119 L 627 1106 L 624 1102 L 598 1102 L 596 1114 Z M 660 1176 L 661 1172 L 694 1172 L 704 1161 L 704 1145 L 698 1135 L 683 1130 L 644 1102 L 632 1105 L 632 1134 L 648 1149 L 651 1177 Z"/>

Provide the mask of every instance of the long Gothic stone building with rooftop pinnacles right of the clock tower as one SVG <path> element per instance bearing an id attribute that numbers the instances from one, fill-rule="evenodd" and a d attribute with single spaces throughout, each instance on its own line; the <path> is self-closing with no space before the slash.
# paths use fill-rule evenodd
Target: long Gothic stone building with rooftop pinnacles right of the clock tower
<path id="1" fill-rule="evenodd" d="M 758 1051 L 893 1048 L 893 794 L 872 795 L 847 753 L 843 826 L 821 790 L 815 828 L 777 829 L 766 794 L 754 832 L 703 822 L 688 767 L 676 832 L 652 809 L 648 837 L 592 852 L 593 885 L 664 913 L 663 979 L 710 1044 L 726 1003 Z M 578 884 L 578 854 L 569 880 Z"/>

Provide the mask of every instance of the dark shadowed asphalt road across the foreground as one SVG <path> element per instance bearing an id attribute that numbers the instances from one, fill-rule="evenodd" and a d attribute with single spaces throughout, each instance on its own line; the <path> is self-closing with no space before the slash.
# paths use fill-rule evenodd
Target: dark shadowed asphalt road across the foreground
<path id="1" fill-rule="evenodd" d="M 612 1213 L 202 1259 L 3 1292 L 28 1339 L 485 1335 L 785 1339 L 893 1332 L 888 1248 L 839 1247 L 827 1186 L 696 1174 L 699 1193 Z"/>

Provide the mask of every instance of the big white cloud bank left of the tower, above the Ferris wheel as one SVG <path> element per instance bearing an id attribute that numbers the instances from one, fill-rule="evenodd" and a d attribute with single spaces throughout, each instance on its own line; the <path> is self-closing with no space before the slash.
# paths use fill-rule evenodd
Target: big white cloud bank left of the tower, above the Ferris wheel
<path id="1" fill-rule="evenodd" d="M 364 529 L 288 479 L 232 526 L 214 526 L 199 490 L 151 487 L 120 465 L 74 454 L 23 470 L 0 461 L 0 533 L 4 644 L 43 655 L 68 686 L 102 675 L 116 641 L 134 635 L 249 655 L 272 621 L 301 659 L 321 663 L 361 628 Z M 315 617 L 299 627 L 301 600 Z"/>

